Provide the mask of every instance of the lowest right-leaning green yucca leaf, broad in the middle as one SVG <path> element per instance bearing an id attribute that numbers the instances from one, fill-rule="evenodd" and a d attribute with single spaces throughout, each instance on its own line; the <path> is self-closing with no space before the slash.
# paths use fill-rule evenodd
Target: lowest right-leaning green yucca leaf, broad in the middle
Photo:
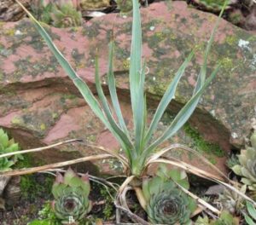
<path id="1" fill-rule="evenodd" d="M 185 104 L 185 106 L 177 113 L 177 116 L 173 119 L 172 124 L 167 128 L 167 130 L 163 133 L 162 136 L 160 136 L 156 141 L 154 141 L 143 153 L 143 159 L 148 156 L 149 153 L 151 153 L 155 147 L 160 145 L 163 141 L 166 141 L 168 138 L 173 136 L 177 133 L 177 130 L 179 130 L 183 124 L 185 124 L 191 114 L 195 111 L 195 107 L 197 106 L 197 102 L 201 98 L 201 95 L 205 89 L 207 89 L 207 86 L 212 82 L 212 79 L 215 78 L 217 72 L 218 72 L 219 66 L 217 66 L 214 71 L 212 72 L 211 76 L 207 78 L 204 85 L 197 91 L 195 95 L 193 95 L 190 100 Z M 196 103 L 196 104 L 195 104 Z M 143 160 L 142 159 L 142 160 Z"/>

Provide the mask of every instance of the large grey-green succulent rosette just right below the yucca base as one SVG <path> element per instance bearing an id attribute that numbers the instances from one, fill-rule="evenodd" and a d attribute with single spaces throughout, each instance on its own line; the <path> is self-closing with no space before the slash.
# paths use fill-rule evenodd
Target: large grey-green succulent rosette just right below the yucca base
<path id="1" fill-rule="evenodd" d="M 191 199 L 177 183 L 188 189 L 189 182 L 184 171 L 167 170 L 160 165 L 157 176 L 143 181 L 148 220 L 154 224 L 191 224 L 190 216 L 195 211 Z"/>

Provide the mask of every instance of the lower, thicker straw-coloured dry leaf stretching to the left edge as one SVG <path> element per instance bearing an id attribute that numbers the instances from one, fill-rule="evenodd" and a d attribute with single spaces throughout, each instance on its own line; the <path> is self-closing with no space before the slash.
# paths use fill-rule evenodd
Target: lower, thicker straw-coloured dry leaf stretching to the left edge
<path id="1" fill-rule="evenodd" d="M 18 175 L 25 175 L 25 174 L 31 174 L 35 172 L 40 172 L 44 170 L 49 170 L 53 168 L 63 167 L 70 164 L 78 164 L 86 161 L 94 161 L 99 159 L 113 159 L 113 156 L 110 154 L 99 154 L 99 155 L 93 155 L 93 156 L 87 156 L 79 159 L 73 159 L 69 161 L 64 161 L 60 163 L 55 164 L 45 164 L 38 167 L 32 167 L 28 169 L 20 169 L 20 170 L 9 170 L 9 171 L 0 171 L 0 176 L 18 176 Z"/>

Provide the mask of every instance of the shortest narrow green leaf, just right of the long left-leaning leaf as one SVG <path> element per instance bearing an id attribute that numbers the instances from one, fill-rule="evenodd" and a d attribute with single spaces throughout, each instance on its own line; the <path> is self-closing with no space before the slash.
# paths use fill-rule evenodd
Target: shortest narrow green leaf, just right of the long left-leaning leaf
<path id="1" fill-rule="evenodd" d="M 127 136 L 125 136 L 125 133 L 123 132 L 123 130 L 121 130 L 119 128 L 119 126 L 116 124 L 116 122 L 113 118 L 113 115 L 111 113 L 111 110 L 108 106 L 108 100 L 107 100 L 106 96 L 104 95 L 104 92 L 102 89 L 102 84 L 101 84 L 101 80 L 100 80 L 100 76 L 99 76 L 98 57 L 96 57 L 95 66 L 96 66 L 96 69 L 95 69 L 95 71 L 96 71 L 95 72 L 96 90 L 97 90 L 100 100 L 102 101 L 102 107 L 103 107 L 104 113 L 106 114 L 106 117 L 108 118 L 108 122 L 109 122 L 112 130 L 114 130 L 116 136 L 119 136 L 119 140 L 121 140 L 122 142 L 125 143 L 125 145 L 122 147 L 124 147 L 127 157 L 129 159 L 131 159 L 131 154 L 135 154 L 135 152 L 132 151 L 133 146 L 131 144 L 131 141 L 129 140 L 129 138 Z M 136 157 L 136 156 L 132 155 L 132 157 Z"/>

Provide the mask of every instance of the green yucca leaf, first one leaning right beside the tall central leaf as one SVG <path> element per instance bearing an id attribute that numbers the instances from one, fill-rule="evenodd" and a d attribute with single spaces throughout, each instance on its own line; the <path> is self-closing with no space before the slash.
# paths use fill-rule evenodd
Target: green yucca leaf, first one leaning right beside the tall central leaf
<path id="1" fill-rule="evenodd" d="M 166 93 L 162 97 L 160 104 L 154 113 L 154 118 L 152 119 L 152 122 L 148 128 L 147 136 L 145 138 L 146 144 L 148 143 L 148 141 L 150 141 L 151 136 L 154 134 L 154 130 L 157 128 L 157 125 L 158 125 L 163 113 L 165 113 L 166 107 L 168 107 L 169 103 L 174 98 L 174 95 L 175 95 L 175 92 L 177 89 L 177 84 L 178 84 L 180 78 L 183 76 L 183 73 L 185 72 L 185 69 L 188 66 L 188 64 L 191 61 L 193 56 L 194 56 L 194 51 L 192 51 L 189 54 L 188 58 L 183 62 L 183 65 L 179 67 L 178 71 L 176 72 L 176 74 L 172 80 L 172 83 L 166 89 Z"/>

